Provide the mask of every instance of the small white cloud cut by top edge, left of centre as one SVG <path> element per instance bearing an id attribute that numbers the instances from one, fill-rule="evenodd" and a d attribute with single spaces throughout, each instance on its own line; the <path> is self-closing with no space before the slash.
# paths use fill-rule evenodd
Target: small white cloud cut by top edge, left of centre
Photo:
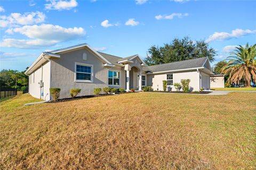
<path id="1" fill-rule="evenodd" d="M 46 10 L 71 10 L 78 5 L 76 0 L 70 1 L 56 1 L 56 0 L 46 0 L 46 2 L 50 2 L 49 4 L 44 4 Z"/>

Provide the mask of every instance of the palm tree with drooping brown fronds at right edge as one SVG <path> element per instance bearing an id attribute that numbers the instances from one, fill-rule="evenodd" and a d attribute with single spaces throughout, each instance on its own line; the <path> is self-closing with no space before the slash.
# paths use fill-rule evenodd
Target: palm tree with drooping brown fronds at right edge
<path id="1" fill-rule="evenodd" d="M 239 83 L 244 80 L 245 86 L 251 86 L 250 82 L 256 82 L 256 44 L 253 46 L 246 44 L 236 47 L 235 52 L 230 53 L 226 60 L 227 65 L 223 66 L 221 73 L 229 74 L 229 83 Z"/>

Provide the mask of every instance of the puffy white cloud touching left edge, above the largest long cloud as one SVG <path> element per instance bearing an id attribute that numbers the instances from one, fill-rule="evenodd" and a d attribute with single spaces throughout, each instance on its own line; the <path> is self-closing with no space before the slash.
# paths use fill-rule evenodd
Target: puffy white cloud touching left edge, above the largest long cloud
<path id="1" fill-rule="evenodd" d="M 18 25 L 29 25 L 45 21 L 45 14 L 42 12 L 28 12 L 25 14 L 11 13 L 9 16 L 0 16 L 1 27 L 17 27 Z"/>

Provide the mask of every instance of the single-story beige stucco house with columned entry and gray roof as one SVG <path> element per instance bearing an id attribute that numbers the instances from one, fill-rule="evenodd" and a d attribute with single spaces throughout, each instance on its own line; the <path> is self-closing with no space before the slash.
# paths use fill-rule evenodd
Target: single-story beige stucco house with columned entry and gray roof
<path id="1" fill-rule="evenodd" d="M 207 57 L 147 66 L 139 55 L 122 58 L 97 52 L 88 44 L 43 52 L 25 73 L 29 75 L 29 94 L 44 100 L 50 100 L 52 87 L 61 89 L 60 98 L 69 98 L 73 88 L 82 89 L 80 96 L 103 87 L 163 90 L 163 80 L 171 90 L 181 79 L 191 80 L 190 90 L 210 90 L 213 74 Z"/>

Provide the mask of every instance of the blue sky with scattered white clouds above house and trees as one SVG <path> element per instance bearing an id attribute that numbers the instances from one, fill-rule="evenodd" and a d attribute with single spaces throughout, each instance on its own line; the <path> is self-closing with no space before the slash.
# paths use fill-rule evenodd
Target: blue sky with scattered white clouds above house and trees
<path id="1" fill-rule="evenodd" d="M 45 50 L 82 43 L 145 58 L 151 45 L 189 36 L 209 41 L 218 52 L 214 63 L 237 45 L 256 43 L 255 1 L 1 1 L 0 6 L 1 70 L 22 71 Z"/>

